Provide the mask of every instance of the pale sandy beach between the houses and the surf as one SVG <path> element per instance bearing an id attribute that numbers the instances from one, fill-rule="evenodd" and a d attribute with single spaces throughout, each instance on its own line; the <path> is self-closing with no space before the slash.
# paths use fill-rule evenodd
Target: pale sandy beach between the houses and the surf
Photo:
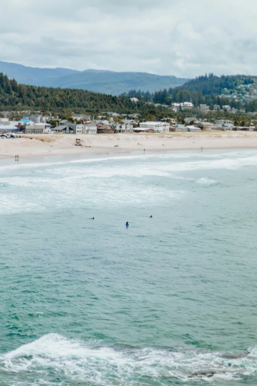
<path id="1" fill-rule="evenodd" d="M 80 145 L 76 145 L 76 139 Z M 118 145 L 118 146 L 117 146 Z M 169 134 L 32 135 L 0 139 L 0 159 L 56 155 L 108 154 L 130 151 L 172 151 L 257 148 L 257 132 Z"/>

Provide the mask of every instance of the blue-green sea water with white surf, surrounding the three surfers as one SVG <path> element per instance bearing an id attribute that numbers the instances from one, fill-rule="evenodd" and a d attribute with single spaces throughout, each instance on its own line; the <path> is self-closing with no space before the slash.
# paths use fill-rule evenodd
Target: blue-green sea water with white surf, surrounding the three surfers
<path id="1" fill-rule="evenodd" d="M 208 384 L 257 385 L 257 150 L 2 161 L 0 386 Z"/>

